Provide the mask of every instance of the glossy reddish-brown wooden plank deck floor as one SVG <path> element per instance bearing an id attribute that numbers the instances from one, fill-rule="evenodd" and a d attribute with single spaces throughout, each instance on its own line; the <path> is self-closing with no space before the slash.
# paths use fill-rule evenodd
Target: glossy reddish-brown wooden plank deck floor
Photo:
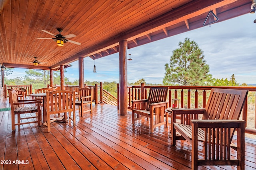
<path id="1" fill-rule="evenodd" d="M 8 100 L 0 103 L 0 108 L 4 107 L 10 107 Z M 162 125 L 150 133 L 146 120 L 136 121 L 133 126 L 131 112 L 120 116 L 116 106 L 106 104 L 93 105 L 92 114 L 76 115 L 76 127 L 72 123 L 53 122 L 51 132 L 47 133 L 45 126 L 38 127 L 36 123 L 16 126 L 16 131 L 12 131 L 10 111 L 0 111 L 0 169 L 187 170 L 191 167 L 191 146 L 186 141 L 171 146 L 170 127 Z M 246 139 L 245 159 L 246 169 L 256 169 L 255 140 Z M 200 166 L 199 169 L 236 167 Z"/>

